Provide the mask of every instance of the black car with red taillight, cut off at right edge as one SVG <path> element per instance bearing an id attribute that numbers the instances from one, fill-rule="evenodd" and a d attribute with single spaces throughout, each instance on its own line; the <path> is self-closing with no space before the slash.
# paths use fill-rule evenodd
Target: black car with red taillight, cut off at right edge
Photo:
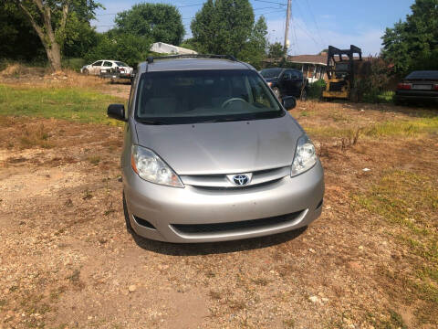
<path id="1" fill-rule="evenodd" d="M 408 101 L 438 103 L 438 70 L 418 70 L 408 74 L 397 85 L 394 101 L 396 104 Z"/>

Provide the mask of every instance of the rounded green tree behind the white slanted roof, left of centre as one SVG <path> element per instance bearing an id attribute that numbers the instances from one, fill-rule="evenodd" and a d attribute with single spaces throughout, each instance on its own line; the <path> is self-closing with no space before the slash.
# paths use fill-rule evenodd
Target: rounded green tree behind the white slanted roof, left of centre
<path id="1" fill-rule="evenodd" d="M 180 45 L 185 34 L 183 19 L 174 5 L 133 5 L 115 19 L 120 33 L 148 37 L 153 42 Z"/>

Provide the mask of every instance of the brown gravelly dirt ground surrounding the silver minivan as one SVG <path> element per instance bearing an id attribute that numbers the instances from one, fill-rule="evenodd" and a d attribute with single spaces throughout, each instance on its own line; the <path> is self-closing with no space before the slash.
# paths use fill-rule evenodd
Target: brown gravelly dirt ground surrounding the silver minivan
<path id="1" fill-rule="evenodd" d="M 126 232 L 119 127 L 2 118 L 0 326 L 435 327 L 433 313 L 419 310 L 436 303 L 418 300 L 409 283 L 422 259 L 353 196 L 369 196 L 394 170 L 437 177 L 436 139 L 360 136 L 342 147 L 342 136 L 311 130 L 420 115 L 404 111 L 298 102 L 292 113 L 310 128 L 325 167 L 321 218 L 273 237 L 202 245 Z M 25 147 L 24 132 L 41 126 L 50 147 Z"/>

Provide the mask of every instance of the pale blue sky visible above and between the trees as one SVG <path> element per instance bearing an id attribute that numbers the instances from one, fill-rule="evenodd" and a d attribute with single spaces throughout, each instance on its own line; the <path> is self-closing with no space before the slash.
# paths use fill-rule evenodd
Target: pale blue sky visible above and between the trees
<path id="1" fill-rule="evenodd" d="M 99 32 L 114 27 L 115 14 L 128 10 L 138 0 L 100 0 L 92 25 Z M 203 0 L 151 0 L 150 3 L 171 4 L 178 7 L 186 30 L 184 38 L 192 37 L 190 23 L 203 5 Z M 286 26 L 287 0 L 250 0 L 255 19 L 266 18 L 270 42 L 283 44 Z M 377 55 L 381 50 L 381 36 L 386 27 L 404 20 L 411 13 L 414 0 L 292 0 L 289 25 L 289 55 L 318 54 L 328 45 L 349 48 L 356 45 L 364 55 Z"/>

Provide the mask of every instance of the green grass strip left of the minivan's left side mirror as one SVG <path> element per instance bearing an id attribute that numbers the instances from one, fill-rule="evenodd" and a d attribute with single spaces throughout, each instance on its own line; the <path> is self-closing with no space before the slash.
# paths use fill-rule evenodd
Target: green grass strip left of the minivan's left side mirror
<path id="1" fill-rule="evenodd" d="M 80 88 L 29 88 L 0 85 L 0 114 L 117 125 L 107 117 L 110 103 L 125 100 Z"/>

